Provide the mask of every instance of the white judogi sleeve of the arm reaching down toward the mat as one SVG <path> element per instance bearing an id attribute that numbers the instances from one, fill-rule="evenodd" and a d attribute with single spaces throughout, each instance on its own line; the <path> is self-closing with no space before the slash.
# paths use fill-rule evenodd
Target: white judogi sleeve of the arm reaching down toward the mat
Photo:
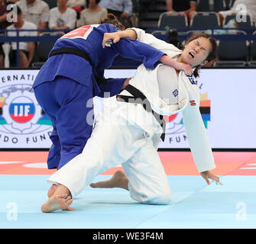
<path id="1" fill-rule="evenodd" d="M 187 106 L 191 106 L 188 104 Z M 215 169 L 215 162 L 206 127 L 199 112 L 199 104 L 183 110 L 183 124 L 190 144 L 193 159 L 199 172 Z"/>

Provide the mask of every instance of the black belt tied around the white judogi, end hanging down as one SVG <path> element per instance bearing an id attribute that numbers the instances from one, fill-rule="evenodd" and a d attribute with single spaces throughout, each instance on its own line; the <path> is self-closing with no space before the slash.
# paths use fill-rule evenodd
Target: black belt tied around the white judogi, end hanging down
<path id="1" fill-rule="evenodd" d="M 145 97 L 145 95 L 138 90 L 137 88 L 135 88 L 133 85 L 127 85 L 125 90 L 129 93 L 131 93 L 132 96 L 126 96 L 126 95 L 116 95 L 116 99 L 117 101 L 125 101 L 125 102 L 129 102 L 129 103 L 135 103 L 135 104 L 142 104 L 143 108 L 147 111 L 147 112 L 151 112 L 154 117 L 156 118 L 157 122 L 160 124 L 160 126 L 163 129 L 163 133 L 161 134 L 160 138 L 161 140 L 164 142 L 164 138 L 165 138 L 165 128 L 166 128 L 166 123 L 164 120 L 163 115 L 157 114 L 152 108 L 151 108 L 151 103 L 147 100 L 147 98 Z M 139 99 L 138 99 L 139 98 Z"/>

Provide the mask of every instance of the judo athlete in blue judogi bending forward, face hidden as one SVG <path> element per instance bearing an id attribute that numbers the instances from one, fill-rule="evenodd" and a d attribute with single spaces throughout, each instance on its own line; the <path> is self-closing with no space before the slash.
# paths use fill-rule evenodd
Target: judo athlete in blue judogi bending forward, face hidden
<path id="1" fill-rule="evenodd" d="M 92 98 L 105 92 L 116 95 L 128 82 L 104 79 L 104 69 L 112 65 L 115 56 L 138 59 L 147 69 L 154 69 L 160 61 L 170 66 L 174 62 L 177 69 L 192 72 L 190 66 L 180 65 L 137 40 L 123 39 L 103 49 L 103 35 L 117 31 L 114 24 L 120 25 L 113 14 L 104 21 L 112 24 L 83 26 L 60 37 L 34 81 L 37 101 L 53 124 L 48 169 L 60 169 L 83 151 L 92 132 L 92 123 L 88 123 L 88 117 L 93 119 Z"/>

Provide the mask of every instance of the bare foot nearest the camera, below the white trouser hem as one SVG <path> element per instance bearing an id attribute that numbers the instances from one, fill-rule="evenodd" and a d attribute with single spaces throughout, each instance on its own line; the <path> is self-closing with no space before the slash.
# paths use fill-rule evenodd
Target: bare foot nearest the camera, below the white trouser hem
<path id="1" fill-rule="evenodd" d="M 44 203 L 41 207 L 43 213 L 50 213 L 56 210 L 75 210 L 70 207 L 73 200 L 68 194 L 55 195 L 48 199 L 46 203 Z"/>

